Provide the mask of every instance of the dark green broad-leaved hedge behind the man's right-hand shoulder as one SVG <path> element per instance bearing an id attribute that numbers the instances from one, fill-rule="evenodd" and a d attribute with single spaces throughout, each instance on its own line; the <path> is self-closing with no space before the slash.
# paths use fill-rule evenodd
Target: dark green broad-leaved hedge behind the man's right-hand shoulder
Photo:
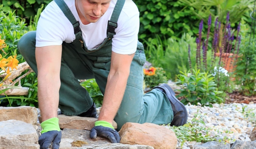
<path id="1" fill-rule="evenodd" d="M 184 33 L 196 34 L 196 22 L 199 18 L 193 13 L 193 7 L 173 0 L 137 0 L 135 1 L 140 12 L 139 38 L 154 38 L 155 34 L 161 39 L 172 37 L 180 38 Z"/>

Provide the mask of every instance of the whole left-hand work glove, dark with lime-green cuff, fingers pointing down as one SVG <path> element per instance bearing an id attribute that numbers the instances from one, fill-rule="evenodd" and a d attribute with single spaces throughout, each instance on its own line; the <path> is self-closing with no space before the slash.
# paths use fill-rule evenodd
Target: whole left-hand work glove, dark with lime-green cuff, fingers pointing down
<path id="1" fill-rule="evenodd" d="M 61 131 L 59 118 L 53 117 L 41 123 L 42 131 L 38 143 L 40 149 L 49 149 L 53 143 L 53 149 L 59 149 L 61 140 Z"/>

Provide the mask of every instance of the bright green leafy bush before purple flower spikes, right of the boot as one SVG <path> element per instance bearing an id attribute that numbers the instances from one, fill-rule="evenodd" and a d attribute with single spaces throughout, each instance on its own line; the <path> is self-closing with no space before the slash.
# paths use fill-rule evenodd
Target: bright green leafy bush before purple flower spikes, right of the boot
<path id="1" fill-rule="evenodd" d="M 176 84 L 182 85 L 180 94 L 178 97 L 183 97 L 181 102 L 188 104 L 189 102 L 193 105 L 197 105 L 199 102 L 201 105 L 212 107 L 213 103 L 222 103 L 224 99 L 218 95 L 222 91 L 218 91 L 217 84 L 214 82 L 214 77 L 208 72 L 200 72 L 200 70 L 193 69 L 192 73 L 180 72 L 177 75 L 178 79 Z"/>

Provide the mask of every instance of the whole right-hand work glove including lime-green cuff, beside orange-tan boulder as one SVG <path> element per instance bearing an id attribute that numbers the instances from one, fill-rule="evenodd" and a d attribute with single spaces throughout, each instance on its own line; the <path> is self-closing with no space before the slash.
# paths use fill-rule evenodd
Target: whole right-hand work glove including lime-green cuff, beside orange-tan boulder
<path id="1" fill-rule="evenodd" d="M 111 143 L 120 143 L 120 136 L 112 124 L 107 121 L 96 121 L 95 126 L 91 129 L 90 137 L 95 139 L 97 136 L 108 138 Z"/>

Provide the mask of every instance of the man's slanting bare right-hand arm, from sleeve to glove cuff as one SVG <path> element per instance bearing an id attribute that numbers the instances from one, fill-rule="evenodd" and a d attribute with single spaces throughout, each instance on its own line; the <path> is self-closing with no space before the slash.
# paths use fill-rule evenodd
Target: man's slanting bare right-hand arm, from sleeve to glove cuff
<path id="1" fill-rule="evenodd" d="M 134 53 L 124 55 L 112 52 L 110 73 L 98 118 L 99 121 L 107 121 L 112 124 L 123 99 L 133 57 Z"/>

